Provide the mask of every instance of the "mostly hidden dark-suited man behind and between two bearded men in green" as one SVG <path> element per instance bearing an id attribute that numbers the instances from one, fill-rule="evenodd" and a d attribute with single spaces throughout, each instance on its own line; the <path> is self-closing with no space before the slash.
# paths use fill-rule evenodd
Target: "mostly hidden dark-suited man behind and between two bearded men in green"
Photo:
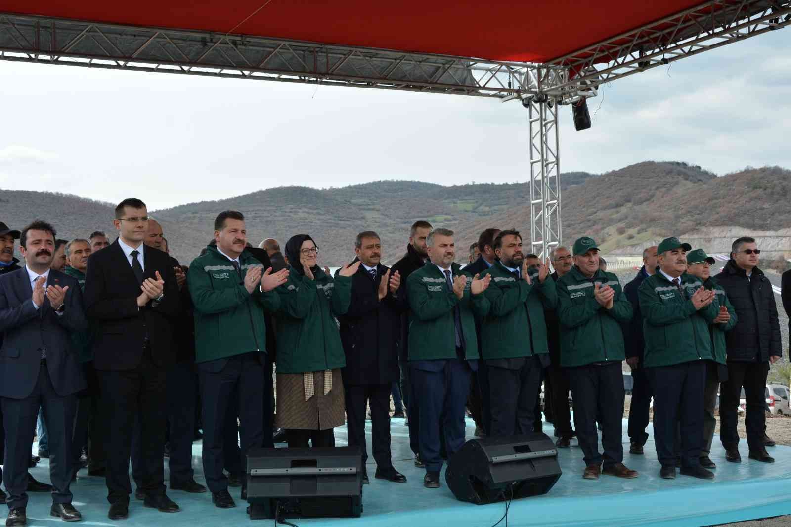
<path id="1" fill-rule="evenodd" d="M 497 256 L 494 254 L 494 238 L 498 237 L 500 229 L 486 229 L 478 237 L 478 260 L 464 267 L 464 271 L 472 276 L 480 275 L 494 265 Z M 481 317 L 473 312 L 475 317 L 475 332 L 478 334 L 478 349 L 481 349 Z M 472 419 L 475 421 L 475 435 L 483 436 L 491 430 L 491 397 L 489 392 L 489 370 L 486 370 L 486 361 L 478 362 L 478 371 L 470 375 L 470 396 L 467 406 L 470 408 Z M 539 386 L 540 389 L 540 386 Z M 540 421 L 540 419 L 539 419 Z"/>

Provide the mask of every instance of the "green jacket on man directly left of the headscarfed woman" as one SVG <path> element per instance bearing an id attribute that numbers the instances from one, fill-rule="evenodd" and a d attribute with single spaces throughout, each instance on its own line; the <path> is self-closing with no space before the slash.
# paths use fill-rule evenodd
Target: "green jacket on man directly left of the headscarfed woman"
<path id="1" fill-rule="evenodd" d="M 280 298 L 274 291 L 252 294 L 244 276 L 261 263 L 244 250 L 239 256 L 241 276 L 231 261 L 214 245 L 192 260 L 187 287 L 194 305 L 195 362 L 208 362 L 250 352 L 267 352 L 267 328 L 263 310 L 274 312 Z"/>

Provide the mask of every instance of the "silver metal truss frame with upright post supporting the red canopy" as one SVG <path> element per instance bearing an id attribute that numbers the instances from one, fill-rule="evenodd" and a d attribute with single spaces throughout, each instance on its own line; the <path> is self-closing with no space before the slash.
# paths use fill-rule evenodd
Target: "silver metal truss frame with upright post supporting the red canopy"
<path id="1" fill-rule="evenodd" d="M 558 105 L 598 86 L 791 25 L 791 0 L 710 0 L 547 63 L 0 13 L 0 60 L 521 100 L 533 252 L 561 241 Z"/>

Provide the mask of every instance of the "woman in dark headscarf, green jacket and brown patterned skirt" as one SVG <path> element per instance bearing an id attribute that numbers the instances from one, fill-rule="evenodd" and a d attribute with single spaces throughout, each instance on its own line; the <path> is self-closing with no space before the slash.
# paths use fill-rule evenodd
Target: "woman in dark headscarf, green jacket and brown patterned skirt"
<path id="1" fill-rule="evenodd" d="M 277 426 L 291 448 L 335 446 L 333 428 L 343 425 L 341 368 L 346 366 L 336 316 L 349 309 L 351 276 L 346 265 L 336 279 L 316 264 L 319 248 L 307 234 L 286 244 L 288 282 L 278 287 Z"/>

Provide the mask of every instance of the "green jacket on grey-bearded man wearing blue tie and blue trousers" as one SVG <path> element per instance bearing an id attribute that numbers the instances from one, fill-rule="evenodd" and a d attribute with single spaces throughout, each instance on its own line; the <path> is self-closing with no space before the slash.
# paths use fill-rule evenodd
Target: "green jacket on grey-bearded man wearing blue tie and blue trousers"
<path id="1" fill-rule="evenodd" d="M 461 300 L 448 286 L 445 275 L 431 262 L 407 279 L 409 319 L 409 360 L 430 361 L 456 358 L 456 323 L 453 308 L 460 306 L 461 330 L 467 360 L 479 358 L 478 336 L 472 310 L 480 316 L 486 310 L 486 295 L 471 294 L 471 275 L 459 264 L 451 265 L 452 275 L 467 277 Z"/>

